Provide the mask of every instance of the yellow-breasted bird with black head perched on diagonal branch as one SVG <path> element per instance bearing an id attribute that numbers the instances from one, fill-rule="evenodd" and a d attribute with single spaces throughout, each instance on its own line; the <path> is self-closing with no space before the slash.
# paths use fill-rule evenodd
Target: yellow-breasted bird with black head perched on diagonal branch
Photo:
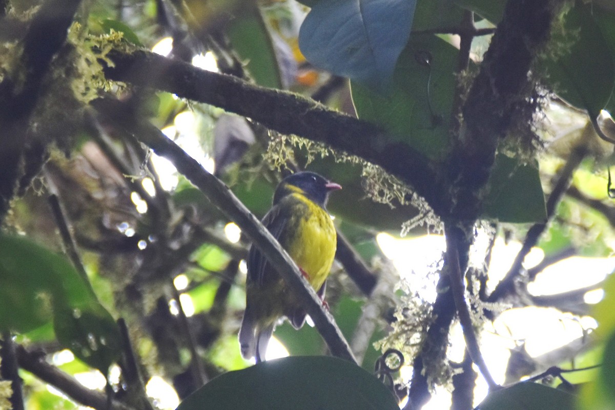
<path id="1" fill-rule="evenodd" d="M 337 243 L 335 226 L 327 212 L 330 192 L 341 189 L 317 173 L 302 171 L 282 179 L 273 195 L 263 225 L 278 240 L 324 302 L 327 276 Z M 280 319 L 301 328 L 306 312 L 296 302 L 284 279 L 271 267 L 258 247 L 248 253 L 246 306 L 239 329 L 242 357 L 264 361 L 269 339 Z"/>

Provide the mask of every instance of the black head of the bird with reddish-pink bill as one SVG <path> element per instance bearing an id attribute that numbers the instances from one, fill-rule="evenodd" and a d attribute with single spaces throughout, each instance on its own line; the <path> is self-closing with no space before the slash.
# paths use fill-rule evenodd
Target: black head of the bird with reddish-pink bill
<path id="1" fill-rule="evenodd" d="M 305 195 L 321 207 L 327 204 L 328 194 L 336 189 L 341 189 L 341 186 L 336 183 L 327 181 L 327 179 L 314 172 L 298 172 L 282 179 L 282 182 L 277 186 L 276 193 L 273 197 L 274 205 L 286 195 L 297 192 Z"/>

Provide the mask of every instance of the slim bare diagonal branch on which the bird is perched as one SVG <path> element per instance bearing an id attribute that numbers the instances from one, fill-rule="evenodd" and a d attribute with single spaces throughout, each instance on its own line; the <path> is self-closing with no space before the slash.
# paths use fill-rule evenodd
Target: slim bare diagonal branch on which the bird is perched
<path id="1" fill-rule="evenodd" d="M 306 312 L 310 315 L 331 353 L 337 357 L 356 363 L 351 349 L 343 334 L 335 324 L 330 313 L 323 310 L 322 302 L 314 289 L 300 274 L 295 262 L 272 237 L 271 233 L 256 219 L 231 190 L 212 174 L 208 173 L 196 160 L 186 154 L 158 128 L 151 124 L 135 124 L 125 118 L 124 106 L 118 101 L 96 100 L 93 106 L 101 113 L 113 117 L 135 135 L 138 140 L 149 146 L 157 155 L 170 160 L 175 168 L 198 187 L 205 196 L 231 221 L 234 221 L 264 254 L 272 267 L 284 278 L 290 289 L 296 293 Z"/>

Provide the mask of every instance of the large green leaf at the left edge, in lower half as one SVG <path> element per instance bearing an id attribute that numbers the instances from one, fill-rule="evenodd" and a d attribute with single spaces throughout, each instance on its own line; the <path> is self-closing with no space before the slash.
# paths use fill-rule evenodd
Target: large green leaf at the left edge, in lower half
<path id="1" fill-rule="evenodd" d="M 0 328 L 24 333 L 51 317 L 58 341 L 106 374 L 119 355 L 119 332 L 90 283 L 63 256 L 1 234 Z"/>

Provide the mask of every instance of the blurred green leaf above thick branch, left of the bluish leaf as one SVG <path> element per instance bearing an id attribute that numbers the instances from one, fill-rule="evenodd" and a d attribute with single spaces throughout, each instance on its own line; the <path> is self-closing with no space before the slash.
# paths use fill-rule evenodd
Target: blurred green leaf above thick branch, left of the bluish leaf
<path id="1" fill-rule="evenodd" d="M 227 26 L 226 34 L 256 84 L 282 88 L 274 45 L 258 7 L 245 2 L 245 7 L 235 13 Z"/>

